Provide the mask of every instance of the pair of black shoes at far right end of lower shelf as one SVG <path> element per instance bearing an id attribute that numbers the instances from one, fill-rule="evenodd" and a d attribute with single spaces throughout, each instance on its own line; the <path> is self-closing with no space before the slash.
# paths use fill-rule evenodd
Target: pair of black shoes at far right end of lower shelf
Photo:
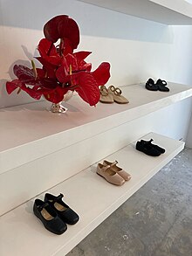
<path id="1" fill-rule="evenodd" d="M 150 141 L 143 141 L 136 143 L 136 149 L 145 153 L 148 156 L 160 156 L 165 153 L 165 149 L 162 149 L 160 146 L 152 143 L 153 139 Z"/>

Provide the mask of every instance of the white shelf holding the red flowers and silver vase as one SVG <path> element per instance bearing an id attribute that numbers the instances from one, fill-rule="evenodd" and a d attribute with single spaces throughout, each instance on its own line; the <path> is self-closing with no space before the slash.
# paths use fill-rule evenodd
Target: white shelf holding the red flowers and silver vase
<path id="1" fill-rule="evenodd" d="M 143 84 L 123 86 L 130 101 L 125 105 L 89 107 L 76 95 L 66 103 L 66 114 L 46 111 L 51 105 L 45 101 L 1 108 L 0 174 L 192 95 L 191 86 L 168 83 L 168 87 L 170 92 L 162 93 L 148 91 Z"/>

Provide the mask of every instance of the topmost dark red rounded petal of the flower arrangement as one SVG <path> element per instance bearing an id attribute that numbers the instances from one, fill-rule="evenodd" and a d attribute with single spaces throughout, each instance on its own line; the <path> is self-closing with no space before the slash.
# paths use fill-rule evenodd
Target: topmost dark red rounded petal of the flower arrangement
<path id="1" fill-rule="evenodd" d="M 79 26 L 67 15 L 58 15 L 51 18 L 44 26 L 45 38 L 55 43 L 58 38 L 67 38 L 76 49 L 79 45 Z"/>

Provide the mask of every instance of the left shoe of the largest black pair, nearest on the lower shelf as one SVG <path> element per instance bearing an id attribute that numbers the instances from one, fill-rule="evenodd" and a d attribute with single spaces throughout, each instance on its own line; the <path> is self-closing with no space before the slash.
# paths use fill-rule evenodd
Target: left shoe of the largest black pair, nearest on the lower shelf
<path id="1" fill-rule="evenodd" d="M 58 217 L 57 212 L 51 208 L 50 204 L 36 199 L 33 204 L 33 212 L 48 231 L 57 235 L 61 235 L 66 231 L 67 226 L 65 222 Z"/>

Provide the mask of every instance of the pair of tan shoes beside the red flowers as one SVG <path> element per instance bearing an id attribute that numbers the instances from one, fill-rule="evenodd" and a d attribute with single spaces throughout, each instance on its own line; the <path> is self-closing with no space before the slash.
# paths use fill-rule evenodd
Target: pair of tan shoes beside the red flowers
<path id="1" fill-rule="evenodd" d="M 121 95 L 122 91 L 118 87 L 109 86 L 108 89 L 106 86 L 100 86 L 100 99 L 102 103 L 113 103 L 114 101 L 119 104 L 127 104 L 129 101 Z"/>

